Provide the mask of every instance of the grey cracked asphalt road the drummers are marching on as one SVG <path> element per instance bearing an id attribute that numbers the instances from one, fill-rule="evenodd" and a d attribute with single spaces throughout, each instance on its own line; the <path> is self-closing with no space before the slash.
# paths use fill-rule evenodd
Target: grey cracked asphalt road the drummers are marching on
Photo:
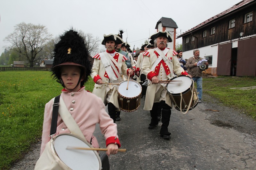
<path id="1" fill-rule="evenodd" d="M 185 115 L 172 109 L 171 139 L 165 140 L 159 134 L 161 122 L 155 129 L 148 129 L 151 118 L 149 111 L 143 110 L 144 99 L 138 110 L 122 111 L 121 121 L 116 122 L 121 148 L 127 151 L 110 155 L 110 169 L 256 169 L 256 123 L 245 114 L 205 97 Z M 105 148 L 105 139 L 98 126 L 95 136 L 100 147 Z M 12 170 L 33 169 L 39 157 L 39 145 L 33 146 L 34 149 L 15 163 Z"/>

